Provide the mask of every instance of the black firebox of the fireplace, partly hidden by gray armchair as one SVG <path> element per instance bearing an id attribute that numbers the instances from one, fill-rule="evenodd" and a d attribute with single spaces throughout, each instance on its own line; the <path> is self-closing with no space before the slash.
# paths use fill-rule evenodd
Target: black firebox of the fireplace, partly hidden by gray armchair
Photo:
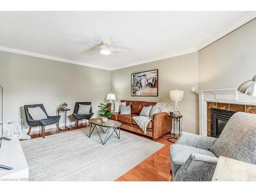
<path id="1" fill-rule="evenodd" d="M 211 108 L 211 137 L 218 138 L 230 117 L 237 112 Z"/>

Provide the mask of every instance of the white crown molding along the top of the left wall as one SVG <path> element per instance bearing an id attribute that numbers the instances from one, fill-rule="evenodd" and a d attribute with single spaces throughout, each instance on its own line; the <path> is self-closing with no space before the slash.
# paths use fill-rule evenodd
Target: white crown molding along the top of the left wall
<path id="1" fill-rule="evenodd" d="M 85 62 L 80 62 L 80 61 L 70 60 L 70 59 L 65 59 L 65 58 L 60 58 L 60 57 L 54 57 L 54 56 L 51 56 L 51 55 L 45 55 L 45 54 L 40 54 L 40 53 L 35 53 L 35 52 L 30 52 L 30 51 L 24 51 L 24 50 L 14 49 L 14 48 L 10 48 L 10 47 L 0 46 L 0 51 L 6 51 L 6 52 L 11 52 L 11 53 L 17 53 L 17 54 L 22 54 L 22 55 L 28 55 L 28 56 L 39 57 L 39 58 L 44 58 L 44 59 L 50 59 L 50 60 L 56 60 L 56 61 L 61 61 L 61 62 L 68 62 L 68 63 L 72 63 L 72 64 L 75 64 L 75 65 L 86 66 L 86 67 L 91 67 L 91 68 L 111 70 L 109 68 L 95 66 L 95 65 L 85 63 Z"/>

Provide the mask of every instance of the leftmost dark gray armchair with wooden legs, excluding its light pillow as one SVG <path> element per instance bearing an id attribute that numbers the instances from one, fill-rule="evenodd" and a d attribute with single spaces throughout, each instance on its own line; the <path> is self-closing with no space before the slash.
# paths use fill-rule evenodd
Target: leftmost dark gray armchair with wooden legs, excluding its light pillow
<path id="1" fill-rule="evenodd" d="M 41 108 L 42 111 L 45 112 L 47 119 L 42 119 L 42 120 L 33 120 L 33 118 L 30 116 L 29 112 L 28 112 L 28 108 L 36 108 L 37 106 L 39 106 Z M 29 105 L 24 105 L 24 109 L 25 109 L 25 115 L 26 115 L 26 119 L 27 122 L 29 124 L 29 132 L 28 135 L 30 134 L 31 128 L 33 126 L 41 126 L 41 133 L 42 133 L 42 138 L 45 138 L 45 126 L 50 125 L 55 123 L 57 126 L 57 132 L 59 133 L 59 118 L 60 116 L 49 116 L 46 112 L 46 109 L 44 107 L 43 104 L 29 104 Z"/>

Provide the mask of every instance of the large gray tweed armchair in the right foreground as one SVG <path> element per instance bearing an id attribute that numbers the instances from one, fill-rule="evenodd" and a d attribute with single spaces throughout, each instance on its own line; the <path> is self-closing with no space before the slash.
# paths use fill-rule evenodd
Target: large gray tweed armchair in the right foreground
<path id="1" fill-rule="evenodd" d="M 170 146 L 174 181 L 211 181 L 220 156 L 256 164 L 255 114 L 234 114 L 218 139 L 183 132 Z"/>

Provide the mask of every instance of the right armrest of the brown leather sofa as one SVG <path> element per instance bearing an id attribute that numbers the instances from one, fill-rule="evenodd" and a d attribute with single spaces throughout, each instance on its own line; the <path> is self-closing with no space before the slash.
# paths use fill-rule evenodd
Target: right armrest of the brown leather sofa
<path id="1" fill-rule="evenodd" d="M 152 118 L 153 139 L 157 139 L 172 130 L 172 118 L 165 112 L 157 113 Z"/>

